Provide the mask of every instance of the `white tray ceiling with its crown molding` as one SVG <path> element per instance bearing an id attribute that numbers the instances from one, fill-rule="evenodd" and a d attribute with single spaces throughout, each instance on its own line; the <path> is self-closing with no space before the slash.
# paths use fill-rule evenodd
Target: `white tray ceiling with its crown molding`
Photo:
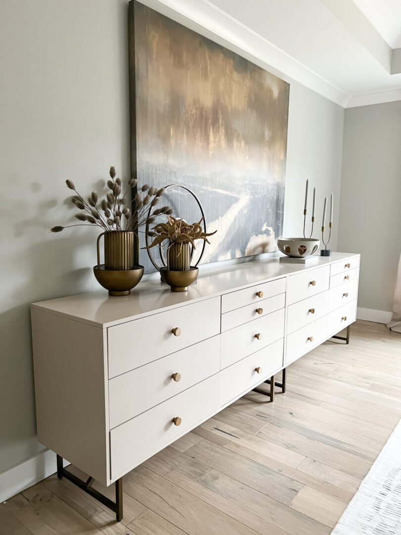
<path id="1" fill-rule="evenodd" d="M 140 1 L 344 107 L 401 100 L 401 0 Z"/>

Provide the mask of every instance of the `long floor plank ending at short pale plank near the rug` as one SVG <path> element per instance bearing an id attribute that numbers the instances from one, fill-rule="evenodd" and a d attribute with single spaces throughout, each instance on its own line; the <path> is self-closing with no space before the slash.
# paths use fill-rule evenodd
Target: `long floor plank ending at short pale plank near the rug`
<path id="1" fill-rule="evenodd" d="M 294 479 L 207 440 L 198 442 L 186 454 L 286 505 L 303 487 Z"/>

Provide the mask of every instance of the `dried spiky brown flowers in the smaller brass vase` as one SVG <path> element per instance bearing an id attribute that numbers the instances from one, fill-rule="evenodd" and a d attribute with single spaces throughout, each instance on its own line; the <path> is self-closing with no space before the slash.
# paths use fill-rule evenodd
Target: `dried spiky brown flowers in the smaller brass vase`
<path id="1" fill-rule="evenodd" d="M 163 242 L 168 241 L 169 247 L 174 243 L 183 245 L 184 243 L 190 243 L 194 249 L 196 240 L 204 240 L 207 243 L 210 241 L 207 236 L 212 236 L 214 232 L 204 232 L 201 226 L 203 218 L 198 223 L 189 224 L 183 219 L 175 218 L 167 213 L 166 223 L 158 223 L 148 235 L 153 238 L 152 243 L 144 249 L 150 249 L 151 247 L 163 245 Z"/>

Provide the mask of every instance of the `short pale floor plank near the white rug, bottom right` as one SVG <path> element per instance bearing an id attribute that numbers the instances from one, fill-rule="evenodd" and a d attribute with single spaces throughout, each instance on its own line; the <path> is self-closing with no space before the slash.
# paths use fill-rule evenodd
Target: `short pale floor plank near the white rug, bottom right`
<path id="1" fill-rule="evenodd" d="M 305 486 L 290 503 L 290 507 L 318 522 L 334 528 L 343 514 L 345 503 Z"/>

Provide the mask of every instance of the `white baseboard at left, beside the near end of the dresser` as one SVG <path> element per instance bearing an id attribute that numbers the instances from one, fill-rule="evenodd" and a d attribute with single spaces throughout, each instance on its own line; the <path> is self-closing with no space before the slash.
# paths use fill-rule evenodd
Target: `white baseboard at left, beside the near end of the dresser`
<path id="1" fill-rule="evenodd" d="M 68 465 L 64 461 L 64 466 Z M 56 454 L 50 449 L 0 473 L 0 503 L 57 472 Z"/>

